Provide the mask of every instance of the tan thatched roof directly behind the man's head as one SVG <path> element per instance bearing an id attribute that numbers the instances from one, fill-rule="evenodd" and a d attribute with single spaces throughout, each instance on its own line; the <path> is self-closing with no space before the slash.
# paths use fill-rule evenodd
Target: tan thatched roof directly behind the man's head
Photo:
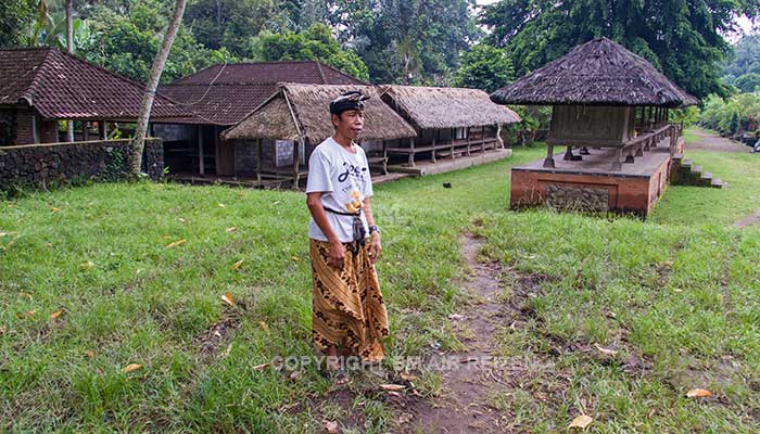
<path id="1" fill-rule="evenodd" d="M 264 101 L 240 124 L 224 131 L 225 139 L 304 139 L 319 143 L 334 133 L 330 120 L 330 101 L 343 92 L 360 90 L 366 101 L 362 140 L 392 140 L 416 137 L 415 129 L 385 105 L 376 88 L 356 85 L 280 84 L 275 94 Z M 291 114 L 292 108 L 292 114 Z M 293 115 L 297 120 L 293 123 Z"/>

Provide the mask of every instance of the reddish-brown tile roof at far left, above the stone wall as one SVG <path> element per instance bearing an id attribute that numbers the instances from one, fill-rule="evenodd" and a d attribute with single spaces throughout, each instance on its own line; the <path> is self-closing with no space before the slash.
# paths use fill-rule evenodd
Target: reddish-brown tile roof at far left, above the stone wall
<path id="1" fill-rule="evenodd" d="M 0 50 L 0 105 L 20 102 L 45 118 L 134 120 L 144 86 L 53 48 Z M 151 119 L 188 111 L 156 95 Z"/>

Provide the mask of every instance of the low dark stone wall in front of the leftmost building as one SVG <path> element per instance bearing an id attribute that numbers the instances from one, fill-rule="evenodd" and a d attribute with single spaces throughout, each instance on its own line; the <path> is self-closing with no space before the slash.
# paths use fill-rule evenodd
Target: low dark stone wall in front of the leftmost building
<path id="1" fill-rule="evenodd" d="M 0 146 L 0 190 L 126 179 L 130 151 L 129 139 Z M 149 139 L 142 171 L 157 180 L 163 170 L 163 143 Z"/>

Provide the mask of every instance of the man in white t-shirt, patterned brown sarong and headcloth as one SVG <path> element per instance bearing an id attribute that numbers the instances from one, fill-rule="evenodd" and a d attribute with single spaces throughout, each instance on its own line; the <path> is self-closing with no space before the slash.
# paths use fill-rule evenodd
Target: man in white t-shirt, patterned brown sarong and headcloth
<path id="1" fill-rule="evenodd" d="M 328 356 L 327 369 L 337 384 L 347 381 L 339 356 L 382 360 L 381 339 L 389 334 L 388 314 L 375 271 L 382 247 L 372 217 L 372 181 L 367 156 L 354 143 L 364 127 L 367 99 L 354 91 L 330 103 L 335 133 L 321 142 L 308 159 L 312 334 L 317 348 Z"/>

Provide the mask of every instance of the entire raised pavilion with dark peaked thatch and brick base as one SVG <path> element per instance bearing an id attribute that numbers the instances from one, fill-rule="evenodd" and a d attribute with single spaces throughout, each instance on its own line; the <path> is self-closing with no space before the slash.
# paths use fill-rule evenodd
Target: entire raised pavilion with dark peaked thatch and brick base
<path id="1" fill-rule="evenodd" d="M 641 216 L 653 209 L 683 158 L 683 127 L 670 123 L 670 110 L 698 103 L 607 38 L 577 47 L 491 99 L 553 106 L 546 157 L 512 168 L 512 207 Z M 560 145 L 565 153 L 555 155 Z"/>

